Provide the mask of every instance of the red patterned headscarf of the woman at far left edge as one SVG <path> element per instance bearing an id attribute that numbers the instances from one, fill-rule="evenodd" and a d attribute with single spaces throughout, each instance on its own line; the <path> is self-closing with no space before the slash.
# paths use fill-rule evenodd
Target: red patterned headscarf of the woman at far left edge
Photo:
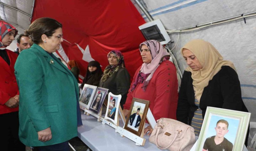
<path id="1" fill-rule="evenodd" d="M 15 30 L 14 38 L 18 34 L 18 30 L 14 28 L 11 24 L 0 20 L 0 47 L 6 47 L 2 44 L 2 40 L 4 36 L 10 32 L 11 30 Z"/>

